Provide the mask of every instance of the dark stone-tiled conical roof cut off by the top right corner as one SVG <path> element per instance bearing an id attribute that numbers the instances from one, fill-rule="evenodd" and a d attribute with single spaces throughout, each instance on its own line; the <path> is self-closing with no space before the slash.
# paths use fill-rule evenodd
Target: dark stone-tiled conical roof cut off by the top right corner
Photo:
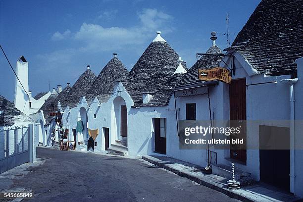
<path id="1" fill-rule="evenodd" d="M 232 48 L 257 72 L 296 77 L 295 60 L 303 57 L 302 22 L 302 0 L 262 0 Z"/>

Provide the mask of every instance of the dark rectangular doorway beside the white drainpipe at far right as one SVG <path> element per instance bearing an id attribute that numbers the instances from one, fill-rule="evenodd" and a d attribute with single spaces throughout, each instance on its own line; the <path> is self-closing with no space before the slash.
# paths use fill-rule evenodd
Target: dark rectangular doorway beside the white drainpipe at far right
<path id="1" fill-rule="evenodd" d="M 260 181 L 290 191 L 289 128 L 259 126 Z"/>

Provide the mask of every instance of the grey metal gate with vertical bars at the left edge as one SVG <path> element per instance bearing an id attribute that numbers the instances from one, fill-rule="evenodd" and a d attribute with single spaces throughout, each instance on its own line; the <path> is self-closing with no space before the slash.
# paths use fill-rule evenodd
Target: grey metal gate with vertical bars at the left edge
<path id="1" fill-rule="evenodd" d="M 0 173 L 29 162 L 29 126 L 0 130 Z"/>

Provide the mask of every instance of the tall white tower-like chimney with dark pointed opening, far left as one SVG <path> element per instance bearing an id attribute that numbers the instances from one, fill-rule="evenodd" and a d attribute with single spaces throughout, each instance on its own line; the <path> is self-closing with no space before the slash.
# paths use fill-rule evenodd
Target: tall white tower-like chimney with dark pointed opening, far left
<path id="1" fill-rule="evenodd" d="M 16 74 L 20 81 L 16 77 L 15 107 L 24 114 L 29 115 L 28 62 L 24 56 L 21 56 L 17 61 Z"/>

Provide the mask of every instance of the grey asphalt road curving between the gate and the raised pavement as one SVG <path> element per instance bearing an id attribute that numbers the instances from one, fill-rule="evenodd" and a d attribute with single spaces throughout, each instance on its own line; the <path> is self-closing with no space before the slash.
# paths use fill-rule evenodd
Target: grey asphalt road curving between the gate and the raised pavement
<path id="1" fill-rule="evenodd" d="M 142 159 L 37 148 L 45 163 L 10 188 L 34 191 L 29 202 L 239 202 Z"/>

